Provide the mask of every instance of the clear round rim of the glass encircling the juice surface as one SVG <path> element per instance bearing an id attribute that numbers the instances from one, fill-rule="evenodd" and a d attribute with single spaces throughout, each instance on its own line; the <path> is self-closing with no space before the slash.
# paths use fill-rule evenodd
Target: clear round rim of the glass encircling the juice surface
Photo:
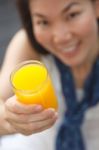
<path id="1" fill-rule="evenodd" d="M 37 65 L 40 65 L 40 66 L 43 66 L 45 69 L 46 69 L 46 78 L 45 80 L 38 86 L 38 88 L 36 90 L 22 90 L 22 89 L 17 89 L 15 87 L 15 85 L 13 84 L 13 77 L 14 77 L 14 74 L 17 70 L 19 70 L 20 68 L 26 66 L 26 65 L 31 65 L 31 64 L 37 64 Z M 11 83 L 11 86 L 13 89 L 15 89 L 16 91 L 19 91 L 19 92 L 22 92 L 24 94 L 33 94 L 33 93 L 37 93 L 39 92 L 40 89 L 42 89 L 44 87 L 44 85 L 46 84 L 48 80 L 48 69 L 47 67 L 45 66 L 44 63 L 42 63 L 41 61 L 38 61 L 38 60 L 27 60 L 27 61 L 23 61 L 21 63 L 19 63 L 14 69 L 13 71 L 11 72 L 10 74 L 10 83 Z"/>

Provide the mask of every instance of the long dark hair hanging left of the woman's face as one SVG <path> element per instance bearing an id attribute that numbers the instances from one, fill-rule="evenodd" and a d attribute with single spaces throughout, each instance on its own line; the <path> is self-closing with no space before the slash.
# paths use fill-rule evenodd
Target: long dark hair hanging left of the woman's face
<path id="1" fill-rule="evenodd" d="M 29 10 L 29 0 L 16 0 L 16 4 L 20 13 L 23 28 L 26 30 L 32 46 L 37 52 L 41 54 L 48 54 L 47 50 L 44 49 L 35 39 Z"/>

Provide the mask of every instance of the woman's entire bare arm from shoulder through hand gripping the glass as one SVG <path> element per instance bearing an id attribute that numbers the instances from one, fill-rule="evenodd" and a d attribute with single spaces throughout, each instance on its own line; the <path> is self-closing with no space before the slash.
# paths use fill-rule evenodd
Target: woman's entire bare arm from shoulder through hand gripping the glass
<path id="1" fill-rule="evenodd" d="M 39 59 L 24 30 L 19 31 L 8 46 L 0 72 L 0 135 L 22 133 L 30 135 L 50 128 L 57 119 L 53 109 L 38 105 L 23 105 L 13 95 L 10 73 L 25 60 Z"/>

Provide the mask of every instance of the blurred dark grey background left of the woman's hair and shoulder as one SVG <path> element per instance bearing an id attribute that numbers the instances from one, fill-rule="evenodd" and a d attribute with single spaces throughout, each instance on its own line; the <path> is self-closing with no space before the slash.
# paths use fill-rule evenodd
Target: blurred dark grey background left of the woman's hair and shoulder
<path id="1" fill-rule="evenodd" d="M 16 0 L 0 0 L 0 66 L 13 35 L 21 28 Z"/>

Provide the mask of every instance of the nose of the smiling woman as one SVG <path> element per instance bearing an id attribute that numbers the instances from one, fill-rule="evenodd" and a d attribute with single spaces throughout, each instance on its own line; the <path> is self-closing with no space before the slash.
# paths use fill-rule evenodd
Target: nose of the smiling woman
<path id="1" fill-rule="evenodd" d="M 53 29 L 53 42 L 56 44 L 65 44 L 71 41 L 72 32 L 69 27 L 57 26 Z"/>

